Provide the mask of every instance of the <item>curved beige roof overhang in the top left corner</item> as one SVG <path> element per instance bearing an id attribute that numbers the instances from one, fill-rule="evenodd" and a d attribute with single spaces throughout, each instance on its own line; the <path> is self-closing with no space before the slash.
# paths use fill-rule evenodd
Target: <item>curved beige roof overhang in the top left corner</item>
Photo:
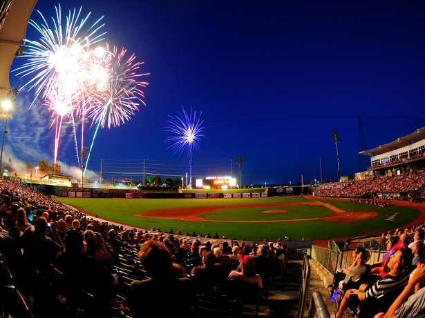
<path id="1" fill-rule="evenodd" d="M 0 6 L 0 101 L 10 91 L 9 73 L 13 59 L 23 52 L 23 39 L 37 0 L 6 0 Z M 10 115 L 0 108 L 0 119 Z"/>

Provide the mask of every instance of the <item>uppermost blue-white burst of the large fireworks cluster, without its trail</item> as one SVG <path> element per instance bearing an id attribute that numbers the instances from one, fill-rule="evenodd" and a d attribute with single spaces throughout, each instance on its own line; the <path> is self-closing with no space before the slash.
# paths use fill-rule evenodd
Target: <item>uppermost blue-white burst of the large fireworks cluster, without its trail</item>
<path id="1" fill-rule="evenodd" d="M 94 43 L 102 40 L 106 34 L 96 34 L 104 26 L 100 25 L 103 17 L 97 20 L 86 32 L 82 29 L 86 24 L 91 13 L 81 20 L 79 11 L 69 11 L 66 17 L 66 27 L 62 27 L 61 7 L 55 6 L 56 19 L 52 18 L 53 28 L 50 28 L 43 14 L 39 12 L 43 23 L 39 24 L 34 20 L 28 23 L 33 26 L 40 34 L 39 41 L 30 41 L 26 39 L 26 50 L 21 57 L 28 58 L 28 62 L 17 68 L 17 75 L 22 77 L 31 77 L 20 90 L 28 86 L 28 90 L 35 89 L 35 99 L 43 92 L 42 97 L 47 98 L 50 93 L 57 90 L 64 77 L 70 77 L 75 83 L 81 86 L 82 69 L 86 66 L 87 50 Z M 35 101 L 34 99 L 34 101 Z M 32 103 L 34 103 L 32 101 Z M 31 103 L 31 106 L 32 106 Z"/>

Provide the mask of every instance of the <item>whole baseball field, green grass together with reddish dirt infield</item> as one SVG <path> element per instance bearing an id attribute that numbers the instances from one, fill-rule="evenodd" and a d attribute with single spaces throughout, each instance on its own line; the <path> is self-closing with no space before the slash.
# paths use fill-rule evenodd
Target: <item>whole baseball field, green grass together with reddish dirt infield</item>
<path id="1" fill-rule="evenodd" d="M 292 241 L 357 237 L 423 222 L 422 203 L 392 201 L 381 208 L 347 199 L 270 197 L 246 199 L 57 198 L 88 215 L 138 228 L 155 227 L 227 239 Z"/>

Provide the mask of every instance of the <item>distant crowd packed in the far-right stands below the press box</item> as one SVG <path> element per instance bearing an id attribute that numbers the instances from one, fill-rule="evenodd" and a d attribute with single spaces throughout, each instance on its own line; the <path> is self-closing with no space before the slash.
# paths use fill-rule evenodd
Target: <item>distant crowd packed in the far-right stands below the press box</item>
<path id="1" fill-rule="evenodd" d="M 414 192 L 425 184 L 425 172 L 416 171 L 394 177 L 377 177 L 359 181 L 334 182 L 314 186 L 321 197 L 361 197 L 377 192 Z"/>

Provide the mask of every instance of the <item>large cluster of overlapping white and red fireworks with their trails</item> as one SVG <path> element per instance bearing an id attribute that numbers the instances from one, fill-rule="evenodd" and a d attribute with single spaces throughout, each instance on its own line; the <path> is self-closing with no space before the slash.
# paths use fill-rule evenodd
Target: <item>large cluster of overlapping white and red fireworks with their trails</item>
<path id="1" fill-rule="evenodd" d="M 73 121 L 78 159 L 75 119 L 82 118 L 81 146 L 84 146 L 84 117 L 90 117 L 91 126 L 96 126 L 91 150 L 99 126 L 120 126 L 138 110 L 138 101 L 144 104 L 144 94 L 140 88 L 146 87 L 148 83 L 138 81 L 138 77 L 145 74 L 136 73 L 142 63 L 135 62 L 134 54 L 124 60 L 124 48 L 119 54 L 115 47 L 113 52 L 109 52 L 108 44 L 106 50 L 102 47 L 93 49 L 93 45 L 106 34 L 99 32 L 104 26 L 100 23 L 103 17 L 86 28 L 91 13 L 80 19 L 82 8 L 78 11 L 74 9 L 68 12 L 66 25 L 62 27 L 60 5 L 55 10 L 53 28 L 50 28 L 41 12 L 42 23 L 30 20 L 30 25 L 41 37 L 39 41 L 26 40 L 26 52 L 21 57 L 26 57 L 28 61 L 15 71 L 18 71 L 17 75 L 29 78 L 22 88 L 34 89 L 35 99 L 41 96 L 48 110 L 53 112 L 52 117 L 55 119 L 50 127 L 56 123 L 56 166 L 65 116 Z M 87 162 L 88 158 L 86 166 Z"/>

